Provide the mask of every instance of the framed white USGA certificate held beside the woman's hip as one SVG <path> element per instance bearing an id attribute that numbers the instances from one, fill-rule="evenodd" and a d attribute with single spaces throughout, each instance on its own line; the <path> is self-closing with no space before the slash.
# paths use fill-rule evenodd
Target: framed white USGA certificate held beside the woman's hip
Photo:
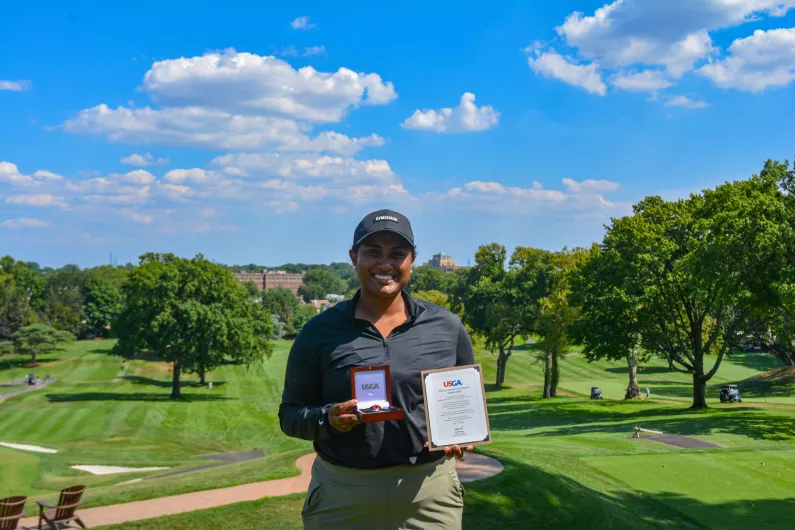
<path id="1" fill-rule="evenodd" d="M 421 372 L 428 448 L 491 443 L 480 364 Z"/>

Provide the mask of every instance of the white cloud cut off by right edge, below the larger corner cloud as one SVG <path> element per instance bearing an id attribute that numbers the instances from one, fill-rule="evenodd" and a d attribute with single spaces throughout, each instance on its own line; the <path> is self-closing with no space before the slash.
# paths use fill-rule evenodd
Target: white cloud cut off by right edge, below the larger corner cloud
<path id="1" fill-rule="evenodd" d="M 721 88 L 761 92 L 795 79 L 795 28 L 756 30 L 728 51 L 729 57 L 699 70 Z"/>

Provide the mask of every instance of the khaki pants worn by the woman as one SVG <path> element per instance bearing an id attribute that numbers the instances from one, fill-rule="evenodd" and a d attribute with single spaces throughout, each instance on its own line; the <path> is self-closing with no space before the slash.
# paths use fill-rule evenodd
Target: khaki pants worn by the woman
<path id="1" fill-rule="evenodd" d="M 306 530 L 460 530 L 463 509 L 453 458 L 364 470 L 318 456 L 301 515 Z"/>

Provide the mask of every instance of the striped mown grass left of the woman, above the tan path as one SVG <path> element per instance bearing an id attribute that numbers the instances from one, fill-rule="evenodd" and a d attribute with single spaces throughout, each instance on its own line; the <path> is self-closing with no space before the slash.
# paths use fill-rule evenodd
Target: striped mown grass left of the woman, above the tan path
<path id="1" fill-rule="evenodd" d="M 58 450 L 39 454 L 0 447 L 0 498 L 52 500 L 61 488 L 79 482 L 89 486 L 86 506 L 96 506 L 297 474 L 294 461 L 311 445 L 283 436 L 277 418 L 289 343 L 277 343 L 270 360 L 212 372 L 212 390 L 186 377 L 184 399 L 176 402 L 169 399 L 169 365 L 135 360 L 124 367 L 108 355 L 111 344 L 78 342 L 43 356 L 36 368 L 25 367 L 27 359 L 0 361 L 0 381 L 21 380 L 30 371 L 57 379 L 0 404 L 0 441 Z M 157 479 L 157 487 L 151 481 L 116 485 L 215 463 L 197 455 L 250 449 L 267 456 Z M 169 469 L 94 476 L 70 467 L 81 464 Z"/>

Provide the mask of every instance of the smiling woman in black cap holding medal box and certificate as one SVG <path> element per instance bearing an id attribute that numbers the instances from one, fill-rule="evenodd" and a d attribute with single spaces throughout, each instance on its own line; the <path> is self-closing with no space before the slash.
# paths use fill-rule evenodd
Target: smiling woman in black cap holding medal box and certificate
<path id="1" fill-rule="evenodd" d="M 464 490 L 450 457 L 463 451 L 428 450 L 420 373 L 474 363 L 472 344 L 458 317 L 406 293 L 415 258 L 408 219 L 365 216 L 350 249 L 361 288 L 306 324 L 290 352 L 281 427 L 318 453 L 305 528 L 461 528 Z M 384 365 L 389 405 L 405 416 L 364 422 L 369 404 L 352 399 L 351 373 Z"/>

